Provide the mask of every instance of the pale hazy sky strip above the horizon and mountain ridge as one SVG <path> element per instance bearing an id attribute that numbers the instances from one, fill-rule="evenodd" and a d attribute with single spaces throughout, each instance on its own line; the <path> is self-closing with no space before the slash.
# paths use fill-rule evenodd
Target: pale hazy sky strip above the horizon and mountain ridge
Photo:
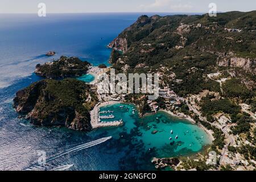
<path id="1" fill-rule="evenodd" d="M 47 13 L 163 12 L 208 13 L 256 10 L 256 0 L 0 0 L 0 13 L 37 13 L 45 3 Z"/>

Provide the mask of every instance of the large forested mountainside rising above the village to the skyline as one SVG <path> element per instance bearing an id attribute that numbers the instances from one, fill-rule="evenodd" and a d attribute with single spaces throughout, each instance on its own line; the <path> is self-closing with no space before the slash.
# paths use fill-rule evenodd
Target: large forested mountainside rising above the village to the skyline
<path id="1" fill-rule="evenodd" d="M 160 67 L 170 69 L 176 79 L 183 81 L 164 81 L 172 85 L 171 89 L 179 96 L 197 94 L 202 90 L 220 93 L 220 84 L 207 78 L 209 73 L 230 69 L 231 57 L 256 58 L 256 31 L 251 31 L 255 30 L 255 12 L 232 11 L 220 13 L 217 17 L 209 17 L 208 14 L 143 15 L 118 36 L 122 43 L 114 43 L 113 47 L 124 52 L 113 51 L 110 60 L 115 69 L 129 65 L 127 72 L 138 72 L 135 67 L 141 63 L 149 67 L 143 69 L 144 72 L 156 71 Z M 225 28 L 240 28 L 241 32 Z M 118 59 L 122 61 L 115 64 Z M 219 67 L 217 60 L 224 59 L 226 67 Z M 245 68 L 246 71 L 242 69 L 236 75 L 237 80 L 227 81 L 224 84 L 225 97 L 250 100 L 255 90 L 247 89 L 242 79 L 255 82 L 255 73 L 251 71 L 254 68 L 255 65 Z M 168 72 L 164 74 L 168 75 Z"/>

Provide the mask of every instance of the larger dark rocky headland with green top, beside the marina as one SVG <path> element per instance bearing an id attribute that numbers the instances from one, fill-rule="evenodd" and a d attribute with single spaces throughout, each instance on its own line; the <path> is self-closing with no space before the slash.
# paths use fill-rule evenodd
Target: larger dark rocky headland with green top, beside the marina
<path id="1" fill-rule="evenodd" d="M 65 126 L 73 130 L 89 131 L 90 114 L 85 100 L 89 87 L 83 82 L 42 80 L 20 90 L 14 98 L 15 110 L 34 125 Z"/>

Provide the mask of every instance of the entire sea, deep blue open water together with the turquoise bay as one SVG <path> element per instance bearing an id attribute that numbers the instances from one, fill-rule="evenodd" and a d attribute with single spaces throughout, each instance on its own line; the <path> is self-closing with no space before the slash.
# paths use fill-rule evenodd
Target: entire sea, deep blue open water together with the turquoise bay
<path id="1" fill-rule="evenodd" d="M 15 93 L 42 79 L 33 73 L 36 64 L 64 55 L 109 65 L 106 45 L 142 14 L 0 14 L 0 170 L 155 170 L 154 157 L 189 156 L 211 143 L 184 119 L 163 112 L 139 118 L 130 104 L 102 108 L 123 126 L 90 133 L 33 126 L 15 113 Z M 45 56 L 48 51 L 56 55 Z"/>

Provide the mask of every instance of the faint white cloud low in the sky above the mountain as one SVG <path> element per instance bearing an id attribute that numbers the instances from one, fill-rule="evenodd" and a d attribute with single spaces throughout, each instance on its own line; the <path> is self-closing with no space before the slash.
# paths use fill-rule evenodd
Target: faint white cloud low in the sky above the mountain
<path id="1" fill-rule="evenodd" d="M 155 0 L 154 3 L 141 5 L 142 11 L 188 11 L 193 6 L 191 3 L 182 3 L 181 0 Z"/>

